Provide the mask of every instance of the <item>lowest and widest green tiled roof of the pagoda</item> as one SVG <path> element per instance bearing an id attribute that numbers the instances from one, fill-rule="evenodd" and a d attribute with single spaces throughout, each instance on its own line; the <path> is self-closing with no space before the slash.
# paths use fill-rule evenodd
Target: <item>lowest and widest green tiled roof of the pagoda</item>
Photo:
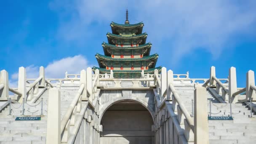
<path id="1" fill-rule="evenodd" d="M 144 69 L 144 73 L 154 73 L 155 69 L 158 69 L 158 72 L 161 72 L 161 66 L 160 67 L 155 67 L 152 69 Z M 99 67 L 93 67 L 92 68 L 93 71 L 95 71 L 95 69 L 99 69 L 99 71 L 101 73 L 110 73 L 109 69 L 104 69 L 104 68 L 99 68 Z M 114 73 L 141 73 L 142 70 L 113 70 Z"/>

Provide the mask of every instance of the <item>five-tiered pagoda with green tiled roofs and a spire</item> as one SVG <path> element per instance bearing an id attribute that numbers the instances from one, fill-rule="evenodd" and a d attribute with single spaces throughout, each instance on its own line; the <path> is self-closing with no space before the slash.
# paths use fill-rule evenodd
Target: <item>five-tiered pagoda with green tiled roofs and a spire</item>
<path id="1" fill-rule="evenodd" d="M 110 24 L 112 33 L 107 33 L 108 43 L 103 42 L 104 55 L 96 54 L 96 59 L 101 74 L 110 73 L 114 78 L 140 78 L 141 72 L 153 74 L 155 69 L 161 71 L 161 67 L 155 67 L 158 54 L 149 55 L 152 44 L 146 43 L 147 33 L 142 33 L 144 24 L 130 24 L 128 10 L 126 10 L 125 24 Z"/>

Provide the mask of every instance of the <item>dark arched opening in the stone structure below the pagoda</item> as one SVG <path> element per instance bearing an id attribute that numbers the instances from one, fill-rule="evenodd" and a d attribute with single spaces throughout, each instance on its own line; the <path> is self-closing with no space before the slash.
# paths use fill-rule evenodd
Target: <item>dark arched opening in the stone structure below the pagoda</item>
<path id="1" fill-rule="evenodd" d="M 109 107 L 102 119 L 101 144 L 153 144 L 152 116 L 135 101 L 120 101 Z"/>

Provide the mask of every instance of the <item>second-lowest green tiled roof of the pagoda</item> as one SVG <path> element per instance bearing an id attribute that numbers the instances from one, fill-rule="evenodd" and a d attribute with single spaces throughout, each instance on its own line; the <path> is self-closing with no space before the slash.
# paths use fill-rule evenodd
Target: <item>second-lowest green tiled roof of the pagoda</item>
<path id="1" fill-rule="evenodd" d="M 146 60 L 155 60 L 158 58 L 158 54 L 155 53 L 151 56 L 144 56 L 142 58 L 112 58 L 111 56 L 104 56 L 99 53 L 95 55 L 96 59 L 107 60 L 107 61 L 146 61 Z"/>

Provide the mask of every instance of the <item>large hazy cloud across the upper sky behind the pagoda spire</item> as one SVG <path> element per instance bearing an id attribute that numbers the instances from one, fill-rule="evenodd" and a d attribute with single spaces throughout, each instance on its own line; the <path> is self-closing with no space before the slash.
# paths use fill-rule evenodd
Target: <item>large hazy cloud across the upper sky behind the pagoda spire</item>
<path id="1" fill-rule="evenodd" d="M 98 35 L 87 28 L 91 23 L 124 18 L 128 6 L 130 20 L 144 21 L 154 48 L 175 53 L 171 61 L 176 63 L 196 49 L 218 59 L 225 48 L 239 44 L 235 37 L 255 35 L 255 0 L 55 0 L 50 5 L 61 17 L 58 35 L 77 43 Z"/>

